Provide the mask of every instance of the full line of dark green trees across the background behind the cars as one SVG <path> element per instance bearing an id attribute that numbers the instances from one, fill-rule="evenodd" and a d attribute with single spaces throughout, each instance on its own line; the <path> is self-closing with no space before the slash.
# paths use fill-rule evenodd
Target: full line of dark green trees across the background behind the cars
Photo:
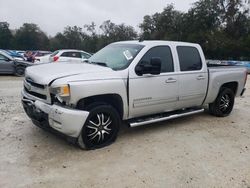
<path id="1" fill-rule="evenodd" d="M 94 53 L 115 41 L 174 40 L 199 43 L 207 58 L 250 60 L 250 14 L 244 3 L 245 0 L 199 0 L 188 12 L 178 11 L 170 4 L 160 13 L 144 16 L 140 32 L 107 20 L 99 26 L 100 33 L 92 22 L 83 27 L 67 26 L 49 37 L 33 23 L 11 31 L 7 22 L 0 22 L 0 48 L 76 48 Z"/>

